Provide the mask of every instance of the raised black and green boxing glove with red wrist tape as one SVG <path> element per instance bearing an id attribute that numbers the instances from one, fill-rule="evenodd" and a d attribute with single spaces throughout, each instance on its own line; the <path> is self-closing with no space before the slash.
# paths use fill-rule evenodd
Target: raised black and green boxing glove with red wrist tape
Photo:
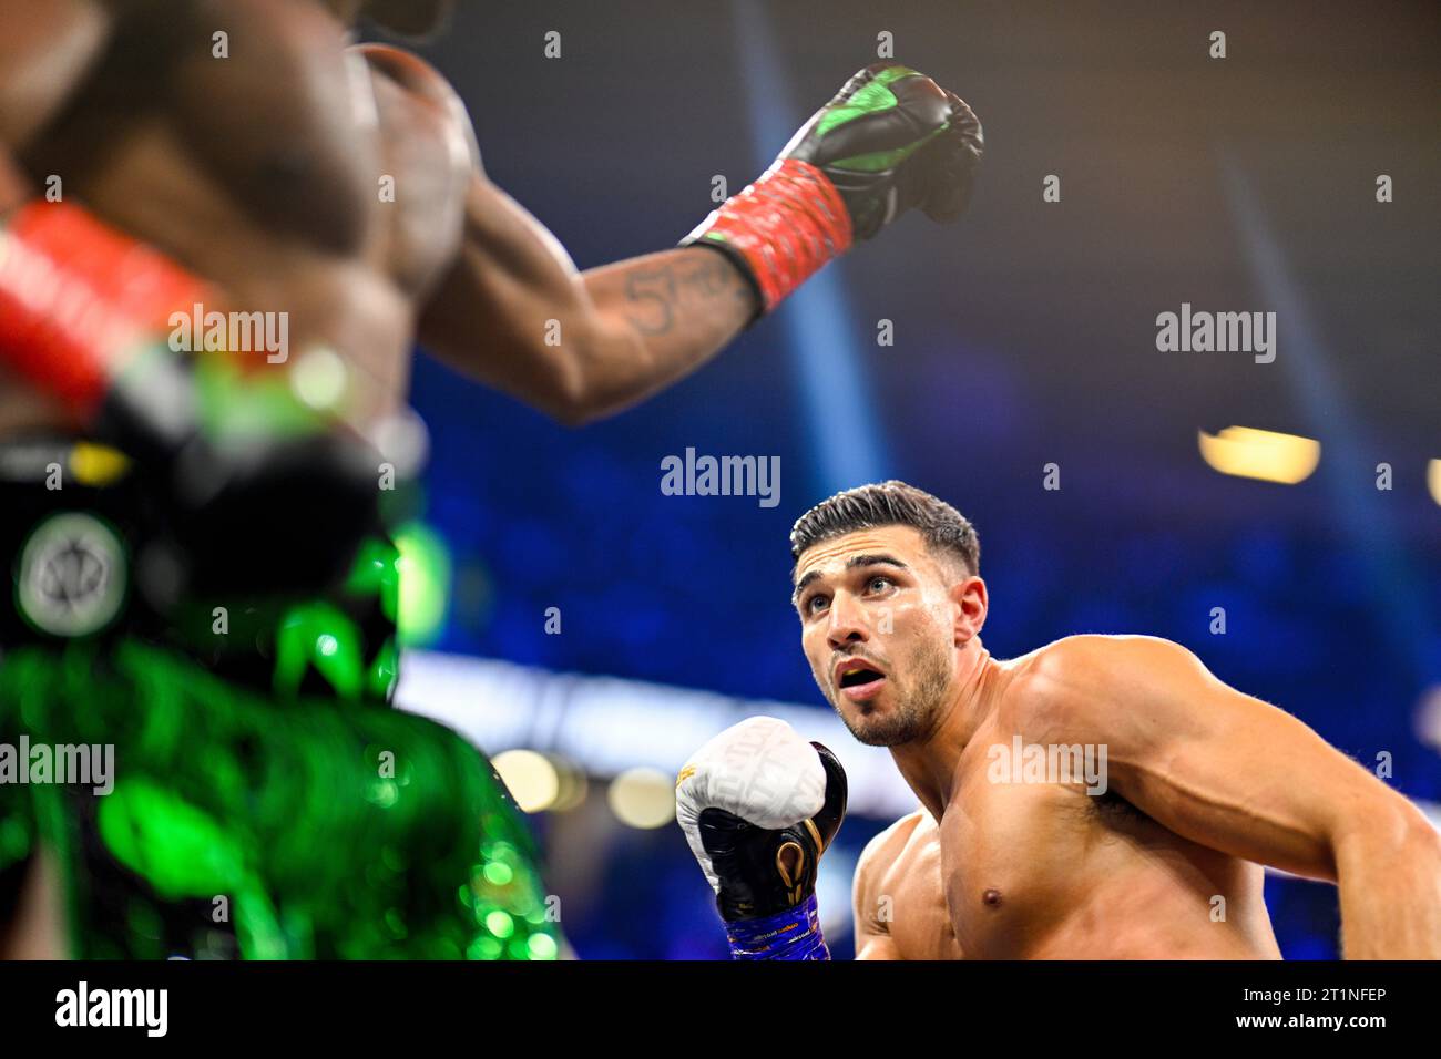
<path id="1" fill-rule="evenodd" d="M 960 97 L 909 66 L 872 63 L 682 245 L 731 256 L 769 313 L 908 209 L 940 222 L 961 216 L 983 150 L 981 124 Z"/>

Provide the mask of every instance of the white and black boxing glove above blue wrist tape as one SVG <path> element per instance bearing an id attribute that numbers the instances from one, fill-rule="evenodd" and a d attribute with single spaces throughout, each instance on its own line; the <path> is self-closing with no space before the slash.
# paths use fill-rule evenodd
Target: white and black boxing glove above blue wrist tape
<path id="1" fill-rule="evenodd" d="M 676 818 L 726 922 L 806 902 L 844 816 L 840 762 L 775 718 L 728 728 L 676 784 Z"/>

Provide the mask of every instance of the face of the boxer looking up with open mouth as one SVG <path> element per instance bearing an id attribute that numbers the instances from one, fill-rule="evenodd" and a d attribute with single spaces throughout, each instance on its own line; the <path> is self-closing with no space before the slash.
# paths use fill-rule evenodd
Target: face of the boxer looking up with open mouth
<path id="1" fill-rule="evenodd" d="M 958 579 L 964 571 L 909 526 L 856 530 L 801 553 L 806 658 L 860 742 L 896 746 L 931 730 L 955 676 Z"/>

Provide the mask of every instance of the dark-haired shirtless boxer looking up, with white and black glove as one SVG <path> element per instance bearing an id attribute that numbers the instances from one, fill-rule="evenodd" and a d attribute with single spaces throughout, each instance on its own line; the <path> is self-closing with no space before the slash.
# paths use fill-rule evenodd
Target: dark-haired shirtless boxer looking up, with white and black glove
<path id="1" fill-rule="evenodd" d="M 860 954 L 1278 958 L 1262 901 L 1261 866 L 1272 864 L 1337 885 L 1347 958 L 1441 958 L 1435 828 L 1190 651 L 1076 635 L 993 658 L 980 640 L 989 596 L 974 529 L 904 483 L 811 509 L 791 553 L 817 684 L 852 735 L 891 749 L 925 810 L 863 857 Z M 790 870 L 777 854 L 787 843 L 813 863 L 834 827 L 813 841 L 806 821 L 844 784 L 781 722 L 745 725 L 708 743 L 680 782 L 682 823 L 719 895 L 757 892 L 767 872 Z M 742 765 L 757 746 L 761 764 Z M 1076 765 L 1087 749 L 1099 769 Z M 731 877 L 715 870 L 713 850 L 726 844 L 718 831 L 745 849 L 728 859 L 742 866 Z M 909 859 L 914 875 L 896 879 L 892 857 Z M 801 889 L 729 921 L 732 944 L 739 935 L 748 955 L 803 948 L 814 958 L 814 916 L 797 915 L 814 909 L 814 893 Z M 954 948 L 921 937 L 942 903 Z"/>

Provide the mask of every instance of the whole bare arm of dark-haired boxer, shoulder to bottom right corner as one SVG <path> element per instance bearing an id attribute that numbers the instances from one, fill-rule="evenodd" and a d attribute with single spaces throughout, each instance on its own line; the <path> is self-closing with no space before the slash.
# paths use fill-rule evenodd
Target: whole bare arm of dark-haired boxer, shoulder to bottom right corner
<path id="1" fill-rule="evenodd" d="M 1027 739 L 1104 743 L 1110 785 L 1177 834 L 1336 882 L 1349 958 L 1441 958 L 1441 836 L 1402 795 L 1177 644 L 1048 654 Z"/>

